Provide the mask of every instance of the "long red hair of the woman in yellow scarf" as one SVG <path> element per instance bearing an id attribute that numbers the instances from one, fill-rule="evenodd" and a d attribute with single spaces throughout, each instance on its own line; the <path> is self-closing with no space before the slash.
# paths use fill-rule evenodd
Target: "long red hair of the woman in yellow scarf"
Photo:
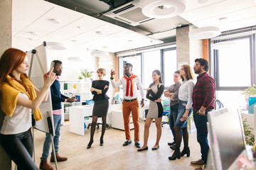
<path id="1" fill-rule="evenodd" d="M 18 68 L 26 57 L 26 52 L 18 50 L 16 48 L 7 49 L 0 59 L 0 88 L 6 81 L 7 75 Z M 27 76 L 27 75 L 26 75 Z"/>

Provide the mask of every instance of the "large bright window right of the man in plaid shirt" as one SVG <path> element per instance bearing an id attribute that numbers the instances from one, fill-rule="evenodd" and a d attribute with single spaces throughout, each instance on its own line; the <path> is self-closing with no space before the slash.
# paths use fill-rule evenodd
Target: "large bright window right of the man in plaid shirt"
<path id="1" fill-rule="evenodd" d="M 253 83 L 252 37 L 232 41 L 232 47 L 214 50 L 218 90 L 243 90 Z"/>

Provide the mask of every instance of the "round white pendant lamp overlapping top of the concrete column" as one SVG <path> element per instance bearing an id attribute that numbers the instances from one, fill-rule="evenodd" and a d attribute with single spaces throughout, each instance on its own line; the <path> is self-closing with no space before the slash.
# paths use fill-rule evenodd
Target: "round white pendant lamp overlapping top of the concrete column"
<path id="1" fill-rule="evenodd" d="M 188 33 L 189 38 L 195 38 L 195 39 L 208 39 L 208 38 L 214 38 L 220 35 L 220 28 L 215 26 L 208 26 L 208 27 L 201 27 L 196 28 L 194 30 L 191 30 Z"/>

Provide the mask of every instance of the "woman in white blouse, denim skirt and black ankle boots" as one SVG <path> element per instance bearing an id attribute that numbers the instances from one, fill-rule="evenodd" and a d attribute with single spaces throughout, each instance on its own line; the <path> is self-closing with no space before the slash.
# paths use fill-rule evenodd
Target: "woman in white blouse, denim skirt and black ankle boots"
<path id="1" fill-rule="evenodd" d="M 182 84 L 178 90 L 178 99 L 180 100 L 178 105 L 178 116 L 174 124 L 175 138 L 176 138 L 176 148 L 174 154 L 169 157 L 169 160 L 180 159 L 186 154 L 187 157 L 190 156 L 190 150 L 188 147 L 188 117 L 192 113 L 192 94 L 193 87 L 193 72 L 189 65 L 184 64 L 181 66 L 181 79 Z M 183 135 L 184 148 L 180 151 L 181 146 L 181 130 Z"/>

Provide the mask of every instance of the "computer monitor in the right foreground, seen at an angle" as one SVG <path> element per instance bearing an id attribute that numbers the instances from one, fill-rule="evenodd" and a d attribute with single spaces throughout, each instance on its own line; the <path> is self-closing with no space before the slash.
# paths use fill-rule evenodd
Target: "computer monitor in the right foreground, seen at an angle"
<path id="1" fill-rule="evenodd" d="M 208 113 L 210 158 L 213 169 L 224 170 L 245 151 L 242 118 L 238 111 L 220 108 Z M 209 167 L 210 168 L 210 167 Z"/>

